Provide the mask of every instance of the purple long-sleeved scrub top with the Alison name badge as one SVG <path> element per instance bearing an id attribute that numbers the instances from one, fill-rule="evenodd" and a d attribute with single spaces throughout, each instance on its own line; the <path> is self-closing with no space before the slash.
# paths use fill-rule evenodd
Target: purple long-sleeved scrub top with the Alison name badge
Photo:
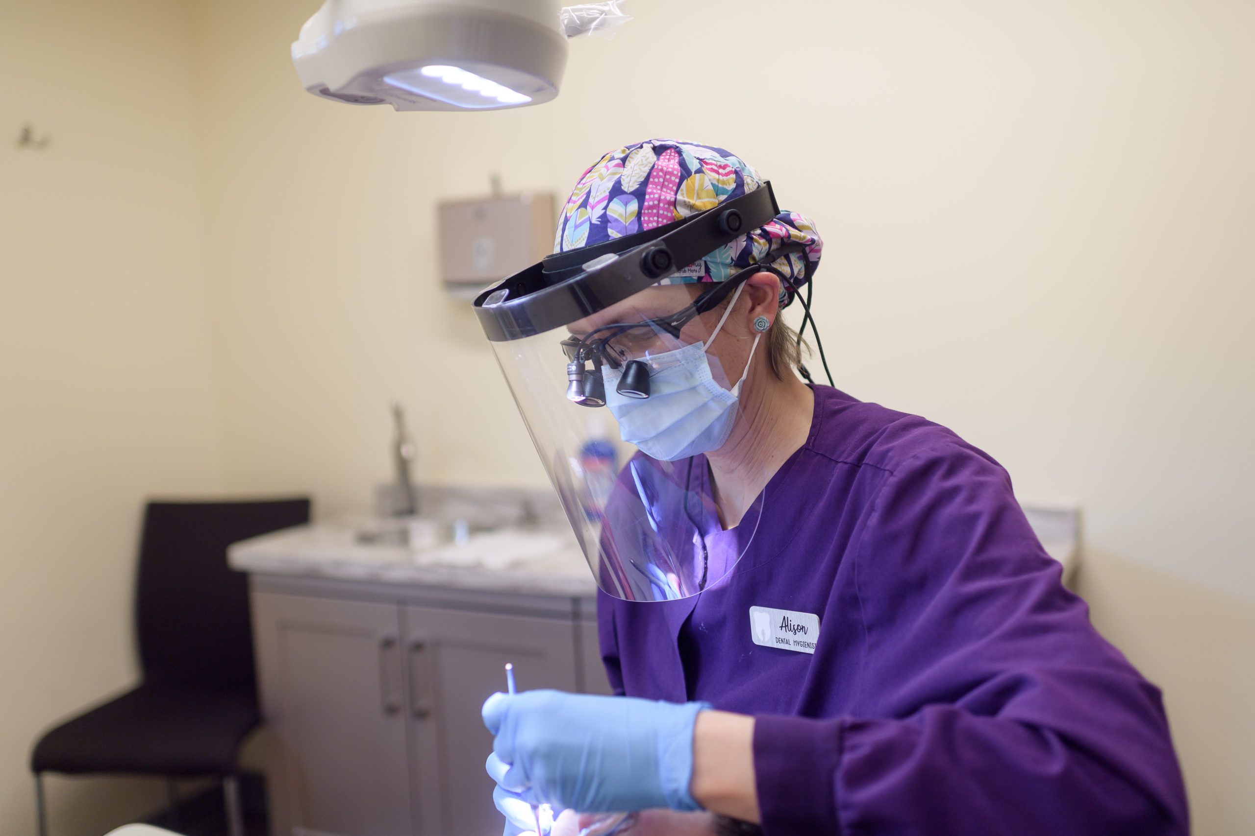
<path id="1" fill-rule="evenodd" d="M 816 386 L 732 574 L 600 594 L 601 654 L 620 694 L 757 717 L 768 836 L 1186 833 L 1160 691 L 1060 574 L 998 462 Z M 817 615 L 814 653 L 756 644 L 750 607 Z"/>

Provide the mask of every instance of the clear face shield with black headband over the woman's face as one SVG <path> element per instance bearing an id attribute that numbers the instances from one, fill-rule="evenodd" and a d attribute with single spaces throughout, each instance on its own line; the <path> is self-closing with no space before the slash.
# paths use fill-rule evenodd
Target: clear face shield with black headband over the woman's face
<path id="1" fill-rule="evenodd" d="M 763 268 L 718 285 L 656 282 L 776 212 L 766 185 L 626 241 L 621 252 L 551 257 L 476 300 L 594 578 L 610 595 L 695 595 L 725 578 L 753 540 L 766 471 L 757 465 L 756 476 L 749 465 L 745 479 L 738 462 L 744 488 L 728 496 L 707 454 L 744 430 L 738 396 L 761 346 L 757 335 L 724 326 L 744 280 Z M 725 528 L 720 506 L 740 509 L 739 521 Z"/>

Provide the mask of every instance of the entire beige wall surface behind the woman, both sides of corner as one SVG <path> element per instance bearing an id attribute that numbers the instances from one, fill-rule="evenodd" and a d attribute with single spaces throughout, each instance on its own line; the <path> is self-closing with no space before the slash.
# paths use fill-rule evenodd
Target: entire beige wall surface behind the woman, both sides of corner
<path id="1" fill-rule="evenodd" d="M 54 133 L 0 145 L 0 560 L 20 579 L 0 828 L 26 827 L 35 729 L 133 672 L 143 494 L 361 508 L 394 396 L 420 478 L 543 481 L 439 291 L 434 204 L 491 172 L 565 193 L 604 150 L 680 135 L 818 222 L 840 386 L 953 426 L 1024 498 L 1083 503 L 1081 590 L 1165 687 L 1196 832 L 1255 832 L 1255 6 L 633 0 L 614 41 L 572 43 L 550 105 L 395 114 L 300 89 L 287 44 L 318 0 L 188 3 L 0 6 L 0 127 Z"/>

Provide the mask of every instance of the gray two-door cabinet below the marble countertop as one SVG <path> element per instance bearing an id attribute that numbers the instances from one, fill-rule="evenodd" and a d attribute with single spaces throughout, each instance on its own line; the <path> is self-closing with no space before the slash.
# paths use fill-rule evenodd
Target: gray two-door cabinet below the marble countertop
<path id="1" fill-rule="evenodd" d="M 479 707 L 607 693 L 591 602 L 255 575 L 272 836 L 463 836 L 502 821 Z"/>

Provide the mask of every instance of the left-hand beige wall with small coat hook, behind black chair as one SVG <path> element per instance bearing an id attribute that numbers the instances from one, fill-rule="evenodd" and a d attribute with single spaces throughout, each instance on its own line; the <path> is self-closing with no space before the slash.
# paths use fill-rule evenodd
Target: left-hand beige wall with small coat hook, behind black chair
<path id="1" fill-rule="evenodd" d="M 151 494 L 221 484 L 186 4 L 0 3 L 0 832 L 39 731 L 133 683 Z M 14 145 L 20 125 L 51 135 Z M 153 781 L 49 781 L 99 835 Z"/>

